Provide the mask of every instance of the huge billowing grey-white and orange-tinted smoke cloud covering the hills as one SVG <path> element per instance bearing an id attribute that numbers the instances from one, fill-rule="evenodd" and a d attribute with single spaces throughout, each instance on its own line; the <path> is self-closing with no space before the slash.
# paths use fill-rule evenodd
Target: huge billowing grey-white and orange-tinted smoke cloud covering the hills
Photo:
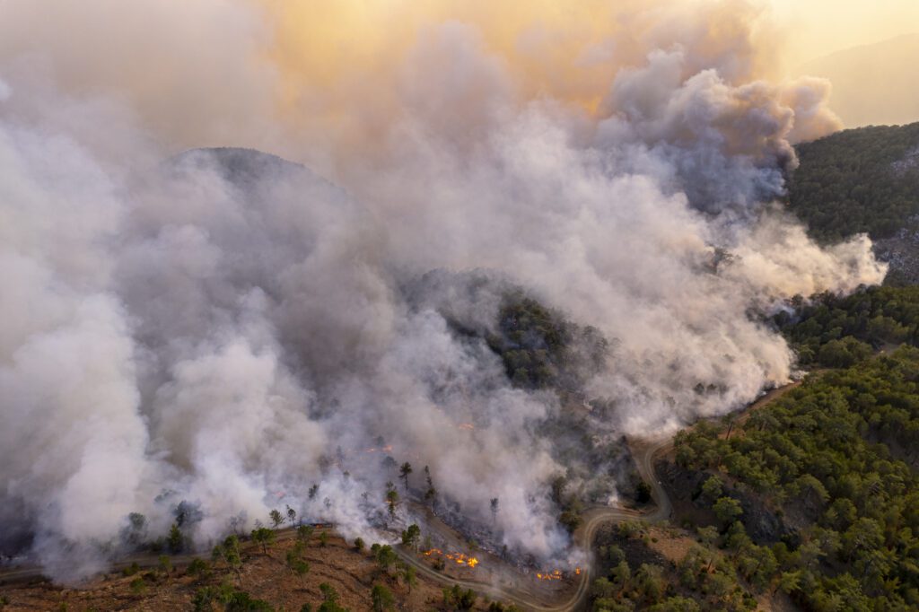
<path id="1" fill-rule="evenodd" d="M 793 368 L 761 314 L 885 272 L 774 204 L 838 124 L 749 6 L 42 4 L 0 6 L 0 547 L 61 580 L 177 518 L 365 531 L 386 457 L 562 555 L 572 402 L 597 445 L 723 414 Z M 521 290 L 606 339 L 573 393 L 490 345 Z"/>

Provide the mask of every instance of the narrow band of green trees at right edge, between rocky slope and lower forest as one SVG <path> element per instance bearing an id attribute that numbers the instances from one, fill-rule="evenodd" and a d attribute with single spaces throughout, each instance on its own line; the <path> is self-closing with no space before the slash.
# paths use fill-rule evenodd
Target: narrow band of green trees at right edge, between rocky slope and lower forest
<path id="1" fill-rule="evenodd" d="M 919 345 L 919 287 L 871 287 L 796 300 L 773 322 L 802 366 L 847 368 L 885 346 Z"/>

